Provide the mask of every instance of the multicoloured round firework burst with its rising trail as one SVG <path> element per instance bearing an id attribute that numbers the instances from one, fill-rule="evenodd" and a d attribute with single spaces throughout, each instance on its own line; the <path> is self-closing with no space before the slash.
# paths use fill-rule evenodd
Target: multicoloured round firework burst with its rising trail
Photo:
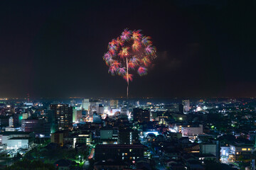
<path id="1" fill-rule="evenodd" d="M 127 81 L 127 97 L 133 74 L 146 75 L 151 60 L 156 58 L 156 47 L 152 46 L 151 38 L 141 32 L 124 29 L 119 37 L 109 42 L 108 51 L 103 56 L 110 67 L 109 73 L 122 76 Z"/>

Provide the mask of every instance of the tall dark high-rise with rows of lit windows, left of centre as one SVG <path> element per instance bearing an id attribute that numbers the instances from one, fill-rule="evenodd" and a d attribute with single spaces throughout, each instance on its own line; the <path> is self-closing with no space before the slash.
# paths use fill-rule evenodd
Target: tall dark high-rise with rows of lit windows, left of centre
<path id="1" fill-rule="evenodd" d="M 72 128 L 73 107 L 68 104 L 52 104 L 50 110 L 54 112 L 58 130 Z"/>

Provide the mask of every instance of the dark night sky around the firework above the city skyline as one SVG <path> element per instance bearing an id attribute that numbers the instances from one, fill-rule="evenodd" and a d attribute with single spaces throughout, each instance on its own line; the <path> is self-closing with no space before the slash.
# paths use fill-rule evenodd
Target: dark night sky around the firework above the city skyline
<path id="1" fill-rule="evenodd" d="M 256 1 L 0 1 L 0 97 L 116 97 L 102 60 L 124 28 L 157 47 L 130 96 L 256 96 Z"/>

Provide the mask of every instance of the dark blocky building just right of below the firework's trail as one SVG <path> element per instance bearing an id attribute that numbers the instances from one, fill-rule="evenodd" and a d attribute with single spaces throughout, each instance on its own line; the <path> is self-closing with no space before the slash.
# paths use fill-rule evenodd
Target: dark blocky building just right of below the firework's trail
<path id="1" fill-rule="evenodd" d="M 147 123 L 150 121 L 150 112 L 149 110 L 146 110 L 146 109 L 134 108 L 133 118 L 135 122 Z"/>

